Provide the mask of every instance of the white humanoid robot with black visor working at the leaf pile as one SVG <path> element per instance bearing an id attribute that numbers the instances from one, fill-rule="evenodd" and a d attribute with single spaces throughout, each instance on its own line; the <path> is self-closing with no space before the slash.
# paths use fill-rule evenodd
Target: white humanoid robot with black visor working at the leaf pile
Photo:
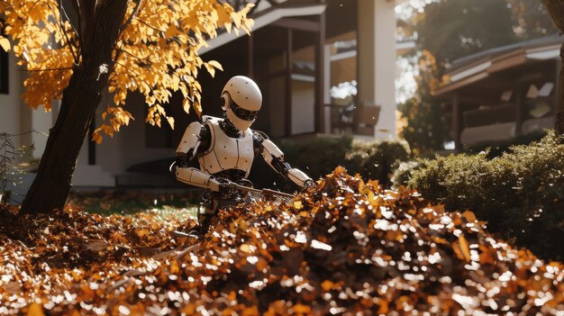
<path id="1" fill-rule="evenodd" d="M 261 154 L 268 166 L 301 187 L 314 181 L 284 161 L 284 154 L 261 131 L 250 130 L 262 104 L 259 86 L 248 77 L 232 77 L 221 96 L 223 119 L 204 116 L 186 128 L 177 148 L 176 166 L 171 169 L 177 180 L 205 188 L 204 211 L 198 212 L 199 232 L 205 233 L 219 209 L 241 203 L 244 194 L 232 183 L 252 186 L 247 179 L 253 158 Z M 188 167 L 197 158 L 199 169 Z"/>

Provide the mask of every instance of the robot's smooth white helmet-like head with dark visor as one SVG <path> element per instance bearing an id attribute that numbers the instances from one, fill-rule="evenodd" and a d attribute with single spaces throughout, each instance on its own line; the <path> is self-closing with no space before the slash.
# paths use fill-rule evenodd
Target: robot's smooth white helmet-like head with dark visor
<path id="1" fill-rule="evenodd" d="M 255 122 L 261 104 L 259 86 L 248 77 L 232 77 L 223 87 L 223 111 L 239 131 L 247 131 Z"/>

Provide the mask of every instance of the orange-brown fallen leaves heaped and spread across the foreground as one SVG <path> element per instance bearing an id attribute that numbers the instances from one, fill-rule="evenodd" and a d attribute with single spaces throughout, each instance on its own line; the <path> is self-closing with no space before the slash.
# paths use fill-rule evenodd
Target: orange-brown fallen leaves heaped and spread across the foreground
<path id="1" fill-rule="evenodd" d="M 0 216 L 0 314 L 561 315 L 564 265 L 494 239 L 471 212 L 342 168 L 290 205 L 189 219 L 68 209 Z"/>

